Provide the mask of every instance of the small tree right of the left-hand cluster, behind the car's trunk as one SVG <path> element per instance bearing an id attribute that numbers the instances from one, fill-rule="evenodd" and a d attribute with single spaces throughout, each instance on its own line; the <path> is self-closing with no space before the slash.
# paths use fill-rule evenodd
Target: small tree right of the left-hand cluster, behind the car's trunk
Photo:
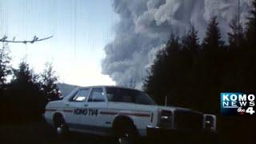
<path id="1" fill-rule="evenodd" d="M 41 74 L 42 92 L 46 100 L 54 101 L 61 99 L 62 94 L 58 90 L 58 77 L 55 75 L 52 63 L 46 63 L 46 68 Z"/>

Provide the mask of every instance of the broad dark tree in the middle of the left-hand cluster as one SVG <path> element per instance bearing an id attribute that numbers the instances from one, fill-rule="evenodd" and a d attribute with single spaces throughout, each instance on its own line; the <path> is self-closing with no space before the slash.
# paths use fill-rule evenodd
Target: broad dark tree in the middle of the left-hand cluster
<path id="1" fill-rule="evenodd" d="M 41 118 L 44 98 L 40 90 L 38 75 L 30 70 L 26 62 L 21 62 L 14 71 L 14 79 L 8 86 L 8 118 L 15 122 L 31 121 Z M 17 119 L 18 118 L 18 119 Z"/>

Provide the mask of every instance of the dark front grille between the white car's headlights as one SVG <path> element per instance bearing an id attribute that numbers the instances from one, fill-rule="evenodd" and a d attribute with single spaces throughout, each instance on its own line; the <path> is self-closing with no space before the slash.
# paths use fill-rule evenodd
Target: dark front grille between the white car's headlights
<path id="1" fill-rule="evenodd" d="M 180 130 L 202 130 L 203 115 L 191 111 L 176 110 L 174 112 L 174 128 Z"/>

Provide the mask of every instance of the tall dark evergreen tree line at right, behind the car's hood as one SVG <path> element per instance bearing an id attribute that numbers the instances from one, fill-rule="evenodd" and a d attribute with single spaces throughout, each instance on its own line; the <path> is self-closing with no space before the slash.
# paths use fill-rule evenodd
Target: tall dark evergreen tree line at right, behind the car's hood
<path id="1" fill-rule="evenodd" d="M 218 17 L 212 17 L 202 41 L 194 26 L 182 37 L 171 34 L 148 70 L 143 89 L 158 104 L 182 106 L 218 117 L 222 139 L 254 142 L 254 117 L 220 115 L 220 93 L 256 90 L 256 0 L 245 25 L 234 18 L 227 42 L 222 40 Z M 237 141 L 238 139 L 234 139 Z"/>

